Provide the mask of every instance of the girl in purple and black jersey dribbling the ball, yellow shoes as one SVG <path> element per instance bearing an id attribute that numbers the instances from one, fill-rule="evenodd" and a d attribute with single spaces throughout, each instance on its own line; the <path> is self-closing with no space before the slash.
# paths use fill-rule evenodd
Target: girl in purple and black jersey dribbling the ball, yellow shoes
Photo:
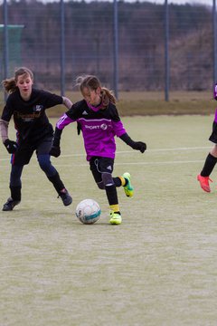
<path id="1" fill-rule="evenodd" d="M 56 124 L 50 154 L 61 154 L 61 132 L 71 122 L 77 121 L 81 130 L 90 170 L 99 189 L 106 191 L 110 206 L 110 224 L 119 225 L 122 221 L 118 206 L 117 187 L 124 187 L 127 197 L 133 197 L 130 174 L 112 177 L 116 153 L 115 136 L 125 141 L 132 149 L 144 153 L 146 144 L 134 141 L 127 135 L 116 108 L 116 99 L 111 91 L 101 87 L 96 76 L 80 76 L 77 79 L 83 100 L 72 105 Z"/>

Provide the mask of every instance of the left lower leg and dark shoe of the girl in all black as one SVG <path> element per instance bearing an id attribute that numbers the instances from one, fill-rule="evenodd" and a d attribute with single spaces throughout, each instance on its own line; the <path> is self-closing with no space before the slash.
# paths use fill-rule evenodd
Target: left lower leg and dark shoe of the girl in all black
<path id="1" fill-rule="evenodd" d="M 9 197 L 3 206 L 3 211 L 12 211 L 14 206 L 21 202 L 21 175 L 24 166 L 12 165 L 10 175 L 10 191 L 11 197 Z"/>

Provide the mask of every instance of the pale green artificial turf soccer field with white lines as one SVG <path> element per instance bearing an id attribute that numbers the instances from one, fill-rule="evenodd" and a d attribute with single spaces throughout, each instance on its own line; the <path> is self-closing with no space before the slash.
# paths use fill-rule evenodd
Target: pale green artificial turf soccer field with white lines
<path id="1" fill-rule="evenodd" d="M 71 206 L 62 206 L 34 156 L 21 204 L 1 212 L 0 326 L 215 326 L 217 167 L 210 194 L 196 180 L 212 148 L 212 118 L 123 118 L 147 151 L 117 139 L 114 176 L 130 172 L 135 187 L 133 198 L 118 188 L 122 225 L 109 225 L 75 124 L 62 133 L 61 157 L 52 158 Z M 2 206 L 10 164 L 0 150 Z M 75 207 L 89 197 L 101 218 L 81 225 Z"/>

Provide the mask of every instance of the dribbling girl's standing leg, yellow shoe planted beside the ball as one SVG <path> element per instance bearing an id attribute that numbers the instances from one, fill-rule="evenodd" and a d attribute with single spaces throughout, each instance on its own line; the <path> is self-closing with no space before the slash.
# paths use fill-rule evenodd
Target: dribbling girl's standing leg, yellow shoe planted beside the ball
<path id="1" fill-rule="evenodd" d="M 111 175 L 114 160 L 111 158 L 92 158 L 90 170 L 100 189 L 105 189 L 110 206 L 110 224 L 121 224 L 116 185 Z"/>

